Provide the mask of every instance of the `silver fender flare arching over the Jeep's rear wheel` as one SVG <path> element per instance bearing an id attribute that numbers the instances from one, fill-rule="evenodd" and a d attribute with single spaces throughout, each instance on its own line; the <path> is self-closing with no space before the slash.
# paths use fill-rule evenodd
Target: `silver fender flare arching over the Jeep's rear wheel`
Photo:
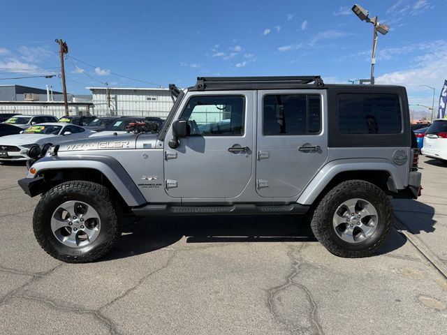
<path id="1" fill-rule="evenodd" d="M 323 189 L 339 173 L 346 171 L 386 171 L 393 179 L 395 189 L 403 189 L 405 186 L 400 178 L 396 165 L 384 158 L 343 159 L 330 161 L 315 175 L 314 179 L 302 191 L 297 202 L 299 204 L 313 204 Z"/>

